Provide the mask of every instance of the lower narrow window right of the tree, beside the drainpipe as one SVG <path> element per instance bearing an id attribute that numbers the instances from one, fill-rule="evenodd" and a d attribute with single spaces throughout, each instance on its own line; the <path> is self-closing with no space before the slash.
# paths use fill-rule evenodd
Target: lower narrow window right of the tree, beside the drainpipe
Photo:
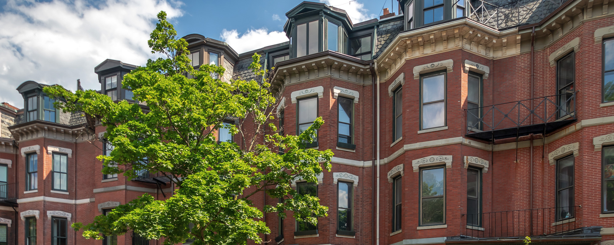
<path id="1" fill-rule="evenodd" d="M 337 183 L 337 233 L 353 236 L 352 232 L 352 187 L 353 183 Z"/>

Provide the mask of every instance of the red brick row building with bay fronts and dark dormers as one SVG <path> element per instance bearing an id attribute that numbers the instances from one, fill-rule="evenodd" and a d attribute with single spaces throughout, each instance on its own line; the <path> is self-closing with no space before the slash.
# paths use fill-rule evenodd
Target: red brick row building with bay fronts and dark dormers
<path id="1" fill-rule="evenodd" d="M 317 116 L 326 122 L 309 147 L 335 153 L 313 193 L 330 207 L 328 217 L 314 226 L 267 214 L 265 241 L 519 244 L 530 236 L 543 244 L 612 244 L 614 6 L 399 4 L 399 15 L 384 10 L 352 23 L 344 10 L 303 2 L 286 13 L 292 43 L 244 54 L 198 34 L 184 37 L 193 66 L 223 66 L 222 80 L 259 79 L 247 69 L 253 53 L 276 67 L 284 134 Z M 101 92 L 130 100 L 121 81 L 134 68 L 101 63 Z M 112 146 L 90 143 L 83 131 L 104 129 L 49 107 L 42 86 L 17 88 L 23 109 L 0 106 L 0 244 L 158 244 L 62 233 L 70 222 L 90 222 L 144 193 L 165 198 L 173 187 L 149 173 L 133 181 L 103 176 L 95 157 Z"/>

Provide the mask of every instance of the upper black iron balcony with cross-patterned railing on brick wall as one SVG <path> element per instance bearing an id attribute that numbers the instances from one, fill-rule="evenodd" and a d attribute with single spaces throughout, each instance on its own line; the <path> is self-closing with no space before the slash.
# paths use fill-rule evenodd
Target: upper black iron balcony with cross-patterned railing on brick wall
<path id="1" fill-rule="evenodd" d="M 575 92 L 519 100 L 467 113 L 467 136 L 482 140 L 549 134 L 575 121 Z"/>

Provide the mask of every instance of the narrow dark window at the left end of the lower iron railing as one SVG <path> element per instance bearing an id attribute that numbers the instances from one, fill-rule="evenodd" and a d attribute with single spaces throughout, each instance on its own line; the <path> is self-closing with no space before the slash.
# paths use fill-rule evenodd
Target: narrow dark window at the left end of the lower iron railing
<path id="1" fill-rule="evenodd" d="M 480 227 L 482 207 L 482 173 L 475 168 L 467 169 L 467 225 Z"/>

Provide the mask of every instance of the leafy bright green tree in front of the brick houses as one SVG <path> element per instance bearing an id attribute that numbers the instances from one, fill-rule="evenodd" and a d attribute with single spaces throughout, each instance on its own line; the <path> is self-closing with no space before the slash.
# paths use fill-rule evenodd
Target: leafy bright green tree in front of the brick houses
<path id="1" fill-rule="evenodd" d="M 270 233 L 263 211 L 282 217 L 283 211 L 293 211 L 295 218 L 312 224 L 327 216 L 328 208 L 319 205 L 317 197 L 300 195 L 290 186 L 298 178 L 317 183 L 317 175 L 330 171 L 330 150 L 304 147 L 324 123 L 322 118 L 298 136 L 274 133 L 277 100 L 268 81 L 226 82 L 211 77 L 223 74 L 222 67 L 203 64 L 193 69 L 187 42 L 176 37 L 165 12 L 158 13 L 158 20 L 148 43 L 152 53 L 163 58 L 148 60 L 122 81 L 146 107 L 115 103 L 93 90 L 50 86 L 44 91 L 60 98 L 57 108 L 83 113 L 90 135 L 95 135 L 93 124 L 106 127 L 104 138 L 115 148 L 110 156 L 98 156 L 105 164 L 103 173 L 134 178 L 135 172 L 149 170 L 169 176 L 179 188 L 166 200 L 145 194 L 91 224 L 72 227 L 84 230 L 85 238 L 132 231 L 147 239 L 163 238 L 163 244 L 186 239 L 194 239 L 195 245 L 245 244 L 247 239 L 261 243 L 258 235 Z M 253 61 L 250 68 L 265 77 L 260 57 L 254 54 Z M 223 126 L 227 118 L 239 124 Z M 220 127 L 238 134 L 240 144 L 218 143 L 214 134 Z M 261 211 L 250 200 L 258 192 L 284 201 Z"/>

